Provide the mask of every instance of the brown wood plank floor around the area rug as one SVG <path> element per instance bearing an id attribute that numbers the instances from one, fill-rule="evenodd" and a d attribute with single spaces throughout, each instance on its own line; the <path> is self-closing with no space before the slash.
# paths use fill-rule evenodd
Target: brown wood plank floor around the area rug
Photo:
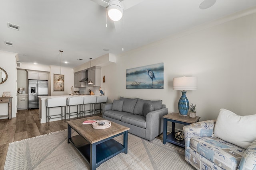
<path id="1" fill-rule="evenodd" d="M 102 114 L 97 115 L 102 117 Z M 9 143 L 67 128 L 68 124 L 64 120 L 50 122 L 50 126 L 48 123 L 41 124 L 39 109 L 19 110 L 16 118 L 0 119 L 0 170 L 4 169 Z M 163 140 L 163 134 L 157 138 Z"/>

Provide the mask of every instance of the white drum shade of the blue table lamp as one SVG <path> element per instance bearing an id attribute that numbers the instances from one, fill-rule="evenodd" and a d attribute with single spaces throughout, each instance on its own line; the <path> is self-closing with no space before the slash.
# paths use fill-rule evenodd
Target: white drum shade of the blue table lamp
<path id="1" fill-rule="evenodd" d="M 196 90 L 197 77 L 173 78 L 173 90 Z"/>

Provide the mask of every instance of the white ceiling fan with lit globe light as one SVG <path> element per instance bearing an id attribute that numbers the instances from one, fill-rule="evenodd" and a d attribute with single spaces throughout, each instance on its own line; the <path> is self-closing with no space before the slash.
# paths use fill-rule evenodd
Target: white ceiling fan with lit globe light
<path id="1" fill-rule="evenodd" d="M 139 4 L 140 2 L 144 0 L 110 0 L 108 2 L 104 0 L 91 0 L 92 2 L 95 2 L 99 4 L 100 6 L 103 6 L 107 9 L 107 13 L 109 18 L 114 21 L 114 25 L 117 32 L 120 32 L 122 29 L 122 22 L 120 19 L 123 16 L 124 10 L 127 10 L 128 8 L 131 8 L 132 6 L 135 6 Z"/>

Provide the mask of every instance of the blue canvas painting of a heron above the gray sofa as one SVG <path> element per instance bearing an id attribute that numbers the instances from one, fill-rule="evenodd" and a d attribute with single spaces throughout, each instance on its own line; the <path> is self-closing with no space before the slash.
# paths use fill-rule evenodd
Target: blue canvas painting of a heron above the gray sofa
<path id="1" fill-rule="evenodd" d="M 127 89 L 164 88 L 164 63 L 126 70 Z"/>

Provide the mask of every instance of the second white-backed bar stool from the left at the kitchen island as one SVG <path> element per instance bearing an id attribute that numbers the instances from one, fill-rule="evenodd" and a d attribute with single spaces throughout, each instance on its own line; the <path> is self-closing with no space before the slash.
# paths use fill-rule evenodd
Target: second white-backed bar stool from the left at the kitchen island
<path id="1" fill-rule="evenodd" d="M 81 117 L 81 114 L 82 114 L 81 107 L 83 104 L 84 104 L 84 98 L 82 98 L 82 97 L 68 98 L 66 106 L 69 107 L 69 109 L 68 109 L 68 113 L 67 113 L 67 109 L 65 112 L 65 122 L 66 122 L 66 115 L 69 115 L 69 120 L 70 120 L 70 116 L 72 116 L 72 115 L 77 115 L 77 118 L 78 118 L 78 115 L 80 115 L 80 117 Z M 71 106 L 76 106 L 75 112 L 70 112 Z M 78 109 L 78 107 L 79 107 L 79 109 Z"/>

